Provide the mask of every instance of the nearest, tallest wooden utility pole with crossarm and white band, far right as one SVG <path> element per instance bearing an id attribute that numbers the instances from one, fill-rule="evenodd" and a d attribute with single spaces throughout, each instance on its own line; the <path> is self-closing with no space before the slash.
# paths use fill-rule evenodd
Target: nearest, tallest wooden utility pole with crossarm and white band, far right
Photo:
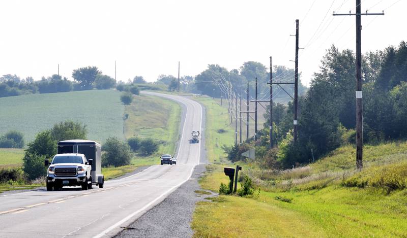
<path id="1" fill-rule="evenodd" d="M 356 0 L 356 13 L 335 14 L 334 16 L 356 16 L 356 168 L 363 168 L 363 108 L 362 108 L 362 23 L 361 16 L 385 15 L 382 13 L 361 13 L 360 0 Z"/>

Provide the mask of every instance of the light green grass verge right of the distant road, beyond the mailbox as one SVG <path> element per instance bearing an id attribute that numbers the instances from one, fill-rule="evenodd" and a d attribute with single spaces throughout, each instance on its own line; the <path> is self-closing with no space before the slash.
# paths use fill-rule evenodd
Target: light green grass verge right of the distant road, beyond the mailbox
<path id="1" fill-rule="evenodd" d="M 201 96 L 193 97 L 193 99 L 206 109 L 205 146 L 208 160 L 210 162 L 224 162 L 225 153 L 222 146 L 233 145 L 235 140 L 235 128 L 230 124 L 227 108 L 220 106 L 210 97 Z M 224 132 L 220 133 L 219 130 L 221 129 Z"/>

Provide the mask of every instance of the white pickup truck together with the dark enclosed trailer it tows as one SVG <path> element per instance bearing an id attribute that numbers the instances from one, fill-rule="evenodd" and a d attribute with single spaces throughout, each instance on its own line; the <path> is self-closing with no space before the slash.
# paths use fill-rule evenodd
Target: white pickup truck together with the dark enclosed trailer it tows
<path id="1" fill-rule="evenodd" d="M 87 190 L 88 188 L 92 189 L 92 184 L 96 184 L 97 186 L 99 186 L 99 188 L 103 188 L 104 176 L 101 174 L 101 153 L 102 151 L 100 144 L 94 141 L 68 140 L 58 142 L 58 154 L 54 156 L 54 159 L 56 156 L 59 156 L 61 154 L 83 154 L 84 159 L 82 159 L 82 163 L 70 164 L 70 162 L 64 162 L 58 165 L 56 165 L 54 159 L 52 160 L 51 164 L 49 164 L 48 160 L 45 160 L 45 165 L 49 165 L 47 173 L 47 190 L 52 191 L 52 188 L 59 189 L 62 188 L 62 186 L 75 186 L 79 184 L 82 185 L 83 190 Z M 82 173 L 80 167 L 83 168 L 83 164 L 89 166 L 90 171 L 85 171 L 85 173 Z M 59 168 L 64 169 L 64 171 L 69 170 L 70 173 L 55 173 L 55 171 L 49 170 L 51 166 L 53 167 L 53 169 Z M 76 172 L 74 171 L 73 167 L 77 168 Z M 86 176 L 83 176 L 83 174 L 85 174 Z M 86 177 L 89 182 L 87 188 L 85 188 L 85 186 L 83 185 L 83 181 L 80 180 L 80 178 L 84 179 L 84 177 Z M 56 187 L 54 185 L 56 185 Z"/>

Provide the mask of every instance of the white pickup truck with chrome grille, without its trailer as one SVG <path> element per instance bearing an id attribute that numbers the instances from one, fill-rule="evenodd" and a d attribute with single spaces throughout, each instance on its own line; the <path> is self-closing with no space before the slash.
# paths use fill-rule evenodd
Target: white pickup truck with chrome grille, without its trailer
<path id="1" fill-rule="evenodd" d="M 84 154 L 57 154 L 47 171 L 47 191 L 58 190 L 63 186 L 82 186 L 82 190 L 92 189 L 93 160 L 86 159 Z"/>

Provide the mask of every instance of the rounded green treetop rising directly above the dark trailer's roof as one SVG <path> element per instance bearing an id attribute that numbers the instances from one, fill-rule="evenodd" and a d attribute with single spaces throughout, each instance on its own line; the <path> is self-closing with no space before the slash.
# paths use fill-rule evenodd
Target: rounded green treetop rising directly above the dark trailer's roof
<path id="1" fill-rule="evenodd" d="M 54 124 L 51 129 L 52 139 L 56 142 L 75 139 L 86 139 L 88 130 L 80 122 L 64 121 Z"/>

